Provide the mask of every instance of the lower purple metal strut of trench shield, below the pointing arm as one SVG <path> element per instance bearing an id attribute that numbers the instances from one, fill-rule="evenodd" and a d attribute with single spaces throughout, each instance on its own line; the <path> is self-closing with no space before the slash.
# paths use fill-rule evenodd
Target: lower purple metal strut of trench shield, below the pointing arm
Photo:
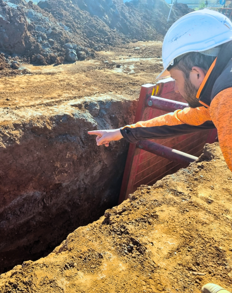
<path id="1" fill-rule="evenodd" d="M 186 154 L 173 148 L 168 148 L 164 145 L 159 145 L 158 143 L 151 142 L 150 140 L 138 141 L 137 148 L 156 154 L 157 156 L 166 158 L 170 161 L 177 162 L 181 165 L 188 165 L 198 159 L 198 157 Z"/>

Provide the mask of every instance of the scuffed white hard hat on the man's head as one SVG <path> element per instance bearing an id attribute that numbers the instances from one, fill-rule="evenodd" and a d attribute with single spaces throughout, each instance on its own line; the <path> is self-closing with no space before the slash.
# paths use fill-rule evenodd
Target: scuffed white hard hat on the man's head
<path id="1" fill-rule="evenodd" d="M 182 16 L 172 24 L 164 37 L 162 49 L 164 70 L 156 79 L 166 77 L 166 69 L 169 65 L 173 65 L 175 59 L 179 61 L 184 54 L 201 52 L 209 56 L 218 56 L 219 48 L 215 47 L 230 40 L 232 40 L 232 23 L 225 15 L 203 9 Z"/>

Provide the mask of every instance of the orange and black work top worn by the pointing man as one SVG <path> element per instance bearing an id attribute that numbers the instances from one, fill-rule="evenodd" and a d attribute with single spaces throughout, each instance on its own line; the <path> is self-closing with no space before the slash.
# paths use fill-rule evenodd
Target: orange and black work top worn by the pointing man
<path id="1" fill-rule="evenodd" d="M 232 41 L 221 47 L 207 72 L 197 97 L 204 106 L 185 108 L 174 113 L 140 121 L 121 128 L 129 142 L 166 138 L 217 128 L 225 161 L 232 171 Z"/>

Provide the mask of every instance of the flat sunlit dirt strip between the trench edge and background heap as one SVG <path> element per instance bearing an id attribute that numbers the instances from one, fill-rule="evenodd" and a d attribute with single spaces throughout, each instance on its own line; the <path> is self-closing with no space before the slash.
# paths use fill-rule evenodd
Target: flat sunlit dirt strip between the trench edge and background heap
<path id="1" fill-rule="evenodd" d="M 11 112 L 17 119 L 17 115 L 21 116 L 17 109 L 51 106 L 96 94 L 114 93 L 136 99 L 140 86 L 154 83 L 162 71 L 161 51 L 161 41 L 136 42 L 97 52 L 94 60 L 74 64 L 22 64 L 18 71 L 30 74 L 1 78 L 0 107 L 9 107 L 9 116 Z M 7 117 L 0 116 L 0 121 L 8 120 Z"/>

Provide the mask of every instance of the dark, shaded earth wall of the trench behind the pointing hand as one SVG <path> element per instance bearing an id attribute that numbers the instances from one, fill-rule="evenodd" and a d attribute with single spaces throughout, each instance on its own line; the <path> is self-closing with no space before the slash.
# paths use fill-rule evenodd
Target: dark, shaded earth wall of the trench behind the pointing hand
<path id="1" fill-rule="evenodd" d="M 97 147 L 87 131 L 133 123 L 136 107 L 131 97 L 88 97 L 1 126 L 0 273 L 117 205 L 128 143 Z"/>

